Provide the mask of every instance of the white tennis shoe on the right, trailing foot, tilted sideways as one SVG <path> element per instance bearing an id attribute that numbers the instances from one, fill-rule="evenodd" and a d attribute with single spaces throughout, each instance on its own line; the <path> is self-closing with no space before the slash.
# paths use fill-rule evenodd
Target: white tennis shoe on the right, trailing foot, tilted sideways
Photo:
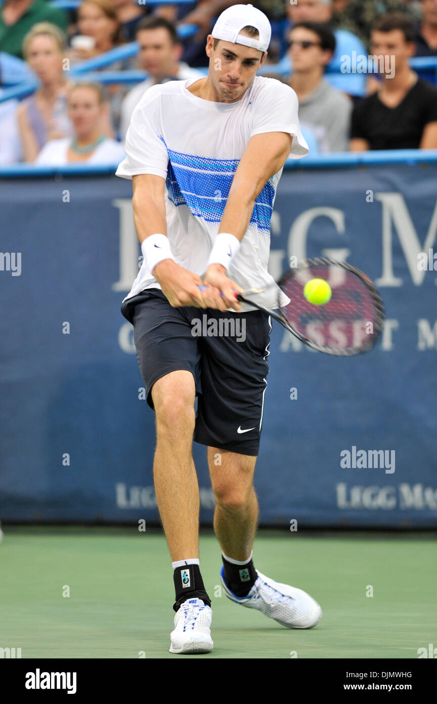
<path id="1" fill-rule="evenodd" d="M 258 579 L 254 586 L 247 596 L 238 597 L 226 585 L 224 568 L 221 568 L 221 583 L 228 599 L 249 609 L 258 609 L 287 628 L 313 628 L 318 624 L 322 609 L 312 596 L 289 584 L 274 582 L 265 574 L 255 571 Z"/>

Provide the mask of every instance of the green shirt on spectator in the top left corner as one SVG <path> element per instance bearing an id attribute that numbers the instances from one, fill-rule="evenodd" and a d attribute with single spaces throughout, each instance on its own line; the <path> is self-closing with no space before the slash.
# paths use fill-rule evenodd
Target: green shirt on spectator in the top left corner
<path id="1" fill-rule="evenodd" d="M 65 12 L 51 7 L 44 0 L 34 0 L 15 25 L 5 25 L 0 11 L 0 51 L 6 51 L 6 54 L 23 58 L 22 40 L 37 22 L 51 22 L 64 32 L 68 25 Z"/>

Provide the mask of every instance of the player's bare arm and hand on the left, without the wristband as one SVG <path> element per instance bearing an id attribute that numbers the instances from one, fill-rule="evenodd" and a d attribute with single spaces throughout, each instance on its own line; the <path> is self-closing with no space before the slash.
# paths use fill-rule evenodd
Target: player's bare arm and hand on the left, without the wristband
<path id="1" fill-rule="evenodd" d="M 167 236 L 164 178 L 152 174 L 136 175 L 132 177 L 132 188 L 133 220 L 141 244 L 143 245 L 152 234 Z M 141 250 L 144 254 L 144 246 Z M 197 285 L 202 284 L 202 279 L 197 274 L 184 269 L 170 258 L 159 261 L 152 274 L 161 285 L 171 306 L 206 308 L 202 292 Z"/>

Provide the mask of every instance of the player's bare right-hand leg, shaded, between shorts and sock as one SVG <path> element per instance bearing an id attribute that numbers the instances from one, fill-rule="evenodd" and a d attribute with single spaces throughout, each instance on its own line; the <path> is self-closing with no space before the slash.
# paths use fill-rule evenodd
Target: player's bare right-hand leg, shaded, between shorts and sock
<path id="1" fill-rule="evenodd" d="M 216 464 L 217 460 L 221 464 Z M 209 474 L 216 498 L 214 531 L 225 555 L 247 561 L 258 520 L 253 477 L 256 457 L 208 448 Z"/>

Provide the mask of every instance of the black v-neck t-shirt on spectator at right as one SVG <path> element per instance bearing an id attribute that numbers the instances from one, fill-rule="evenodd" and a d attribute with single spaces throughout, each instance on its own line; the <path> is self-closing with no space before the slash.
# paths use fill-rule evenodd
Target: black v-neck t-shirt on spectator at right
<path id="1" fill-rule="evenodd" d="M 422 132 L 437 122 L 437 88 L 419 78 L 396 108 L 377 94 L 353 108 L 351 139 L 366 139 L 369 149 L 419 149 Z"/>

